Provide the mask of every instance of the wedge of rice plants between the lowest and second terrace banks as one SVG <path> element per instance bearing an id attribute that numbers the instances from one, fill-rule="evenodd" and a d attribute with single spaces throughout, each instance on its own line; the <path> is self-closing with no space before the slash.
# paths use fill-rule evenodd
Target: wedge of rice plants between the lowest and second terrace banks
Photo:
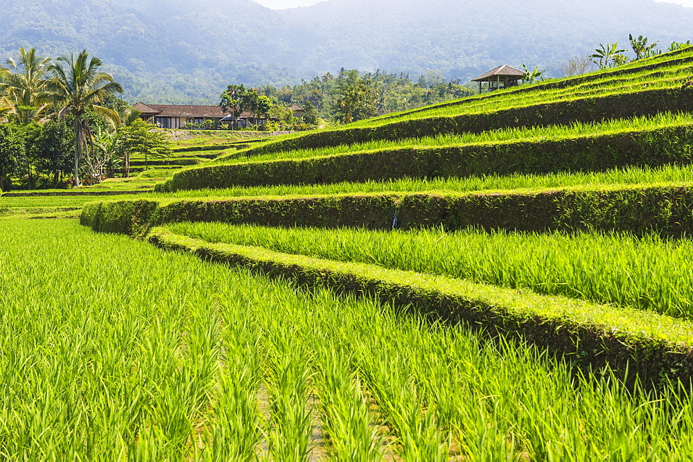
<path id="1" fill-rule="evenodd" d="M 693 315 L 693 242 L 687 239 L 439 229 L 274 229 L 222 223 L 179 223 L 171 229 L 211 242 L 527 287 L 676 317 Z"/>

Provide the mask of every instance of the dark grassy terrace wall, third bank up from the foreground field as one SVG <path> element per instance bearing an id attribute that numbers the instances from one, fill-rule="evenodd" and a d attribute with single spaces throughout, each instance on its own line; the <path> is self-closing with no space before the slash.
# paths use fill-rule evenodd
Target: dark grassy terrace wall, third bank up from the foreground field
<path id="1" fill-rule="evenodd" d="M 693 127 L 669 127 L 580 138 L 399 148 L 296 160 L 207 166 L 178 172 L 155 190 L 173 192 L 232 186 L 383 181 L 403 177 L 543 174 L 602 171 L 625 166 L 690 163 Z"/>

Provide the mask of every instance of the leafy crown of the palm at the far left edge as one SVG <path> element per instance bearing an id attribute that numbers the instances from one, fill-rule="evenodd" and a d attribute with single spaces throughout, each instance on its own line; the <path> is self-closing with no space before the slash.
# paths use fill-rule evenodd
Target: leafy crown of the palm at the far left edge
<path id="1" fill-rule="evenodd" d="M 8 67 L 0 68 L 0 89 L 10 107 L 10 118 L 24 125 L 44 118 L 51 106 L 47 91 L 49 80 L 45 78 L 50 60 L 37 55 L 36 48 L 26 51 L 21 47 L 19 60 L 10 58 L 6 62 Z"/>

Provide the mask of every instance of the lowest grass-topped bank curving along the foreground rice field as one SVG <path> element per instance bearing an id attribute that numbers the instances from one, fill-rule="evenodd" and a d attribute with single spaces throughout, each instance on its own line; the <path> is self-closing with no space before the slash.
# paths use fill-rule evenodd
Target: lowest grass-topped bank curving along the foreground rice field
<path id="1" fill-rule="evenodd" d="M 166 229 L 152 230 L 148 240 L 164 249 L 186 251 L 302 285 L 375 296 L 432 321 L 462 321 L 486 333 L 517 336 L 592 371 L 608 365 L 648 384 L 665 378 L 684 382 L 693 378 L 693 325 L 688 321 L 376 265 L 212 244 Z"/>

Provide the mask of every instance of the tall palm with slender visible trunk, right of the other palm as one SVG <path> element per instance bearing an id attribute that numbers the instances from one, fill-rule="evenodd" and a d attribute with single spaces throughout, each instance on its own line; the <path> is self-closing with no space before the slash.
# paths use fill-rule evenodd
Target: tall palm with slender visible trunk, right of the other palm
<path id="1" fill-rule="evenodd" d="M 74 117 L 75 186 L 80 186 L 79 159 L 84 146 L 89 143 L 89 148 L 94 149 L 89 121 L 85 118 L 87 111 L 91 110 L 116 126 L 120 124 L 120 116 L 115 111 L 98 105 L 109 94 L 123 93 L 123 87 L 113 80 L 112 75 L 98 70 L 102 65 L 98 57 L 90 59 L 87 50 L 82 50 L 77 57 L 74 53 L 60 56 L 49 66 L 53 73 L 51 96 L 55 104 L 62 107 L 60 117 L 67 114 Z"/>

